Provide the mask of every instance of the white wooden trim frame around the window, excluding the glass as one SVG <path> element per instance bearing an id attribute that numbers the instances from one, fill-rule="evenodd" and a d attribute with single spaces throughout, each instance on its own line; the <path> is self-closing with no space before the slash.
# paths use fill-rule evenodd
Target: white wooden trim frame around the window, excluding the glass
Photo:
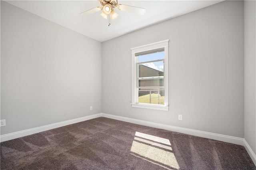
<path id="1" fill-rule="evenodd" d="M 168 42 L 169 40 L 164 40 L 156 43 L 150 43 L 147 45 L 142 45 L 139 47 L 131 48 L 132 50 L 132 107 L 144 108 L 144 109 L 155 109 L 168 111 Z M 150 104 L 150 103 L 138 103 L 138 81 L 137 81 L 137 68 L 136 68 L 136 53 L 150 51 L 153 49 L 164 48 L 164 105 Z"/>

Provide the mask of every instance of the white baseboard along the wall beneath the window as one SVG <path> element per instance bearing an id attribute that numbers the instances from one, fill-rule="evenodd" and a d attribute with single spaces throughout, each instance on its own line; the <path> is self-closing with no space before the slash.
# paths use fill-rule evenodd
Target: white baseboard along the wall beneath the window
<path id="1" fill-rule="evenodd" d="M 127 118 L 127 117 L 109 115 L 109 114 L 105 114 L 105 113 L 102 113 L 102 117 L 107 117 L 110 119 L 116 119 L 119 121 L 124 121 L 124 122 L 129 122 L 129 123 L 135 123 L 138 125 L 144 125 L 144 126 L 148 126 L 148 127 L 170 130 L 173 132 L 180 132 L 180 133 L 184 133 L 184 134 L 200 136 L 203 138 L 220 140 L 223 142 L 228 142 L 228 143 L 233 143 L 233 144 L 244 145 L 244 138 L 238 138 L 238 137 L 234 137 L 234 136 L 227 136 L 227 135 L 223 135 L 223 134 L 204 132 L 204 131 L 193 130 L 193 129 L 189 129 L 189 128 L 175 127 L 175 126 L 164 125 L 164 124 L 160 124 L 160 123 L 153 123 L 153 122 L 148 122 L 148 121 L 141 121 L 138 119 L 131 119 L 131 118 Z"/>

